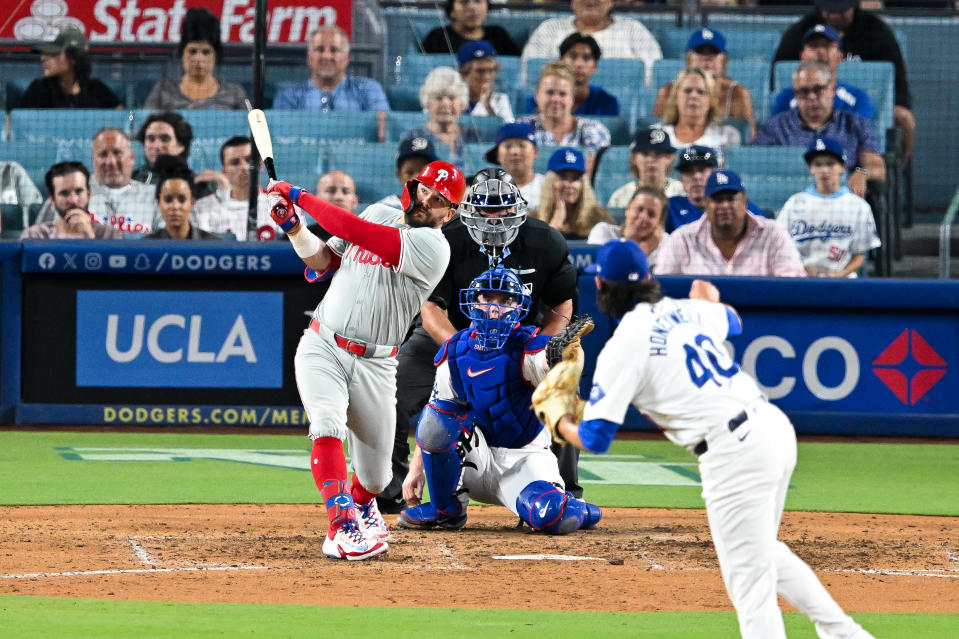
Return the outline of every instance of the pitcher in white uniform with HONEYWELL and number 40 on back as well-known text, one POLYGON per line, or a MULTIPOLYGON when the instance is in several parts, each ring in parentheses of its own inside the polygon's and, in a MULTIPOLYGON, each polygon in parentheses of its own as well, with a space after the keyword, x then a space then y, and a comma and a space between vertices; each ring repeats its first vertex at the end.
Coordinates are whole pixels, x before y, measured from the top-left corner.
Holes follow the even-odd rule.
POLYGON ((572 418, 582 400, 562 400, 560 389, 578 384, 578 375, 568 375, 582 370, 574 361, 555 366, 537 388, 537 415, 554 436, 602 453, 633 404, 699 458, 709 529, 743 637, 786 636, 777 593, 820 637, 871 637, 777 539, 796 434, 723 347, 742 331, 736 312, 702 280, 690 299, 663 297, 629 240, 603 245, 587 270, 596 274, 600 310, 622 321, 599 355, 582 422, 572 418))

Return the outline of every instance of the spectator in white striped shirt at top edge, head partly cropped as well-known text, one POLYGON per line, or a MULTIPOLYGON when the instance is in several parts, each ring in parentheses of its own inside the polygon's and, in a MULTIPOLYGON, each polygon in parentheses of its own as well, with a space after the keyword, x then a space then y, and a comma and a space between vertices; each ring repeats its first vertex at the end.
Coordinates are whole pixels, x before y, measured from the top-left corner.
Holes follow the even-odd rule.
MULTIPOLYGON (((527 60, 555 56, 556 43, 574 32, 593 36, 607 58, 632 58, 649 64, 663 57, 659 43, 642 22, 610 15, 613 0, 572 0, 571 4, 573 16, 546 20, 530 34, 523 47, 524 68, 527 60)), ((636 81, 642 79, 637 68, 636 81)))

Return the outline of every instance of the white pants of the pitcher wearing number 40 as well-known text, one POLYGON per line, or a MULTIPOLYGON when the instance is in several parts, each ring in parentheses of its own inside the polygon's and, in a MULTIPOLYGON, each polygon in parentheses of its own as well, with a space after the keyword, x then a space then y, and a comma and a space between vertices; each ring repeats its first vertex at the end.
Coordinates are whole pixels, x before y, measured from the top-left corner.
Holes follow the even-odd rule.
POLYGON ((778 540, 796 433, 772 404, 756 402, 730 432, 713 428, 699 458, 709 529, 744 639, 785 637, 777 593, 815 624, 822 639, 872 637, 842 611, 812 569, 778 540))

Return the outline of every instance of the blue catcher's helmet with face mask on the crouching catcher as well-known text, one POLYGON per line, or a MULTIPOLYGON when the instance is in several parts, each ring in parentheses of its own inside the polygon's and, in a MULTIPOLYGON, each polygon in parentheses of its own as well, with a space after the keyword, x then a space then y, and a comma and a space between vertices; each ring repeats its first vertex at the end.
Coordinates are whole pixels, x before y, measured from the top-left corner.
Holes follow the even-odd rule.
POLYGON ((530 297, 519 276, 502 266, 480 273, 460 291, 460 310, 473 320, 478 345, 489 350, 503 347, 513 328, 529 313, 529 305, 530 297), (505 294, 506 299, 494 302, 497 294, 505 294))

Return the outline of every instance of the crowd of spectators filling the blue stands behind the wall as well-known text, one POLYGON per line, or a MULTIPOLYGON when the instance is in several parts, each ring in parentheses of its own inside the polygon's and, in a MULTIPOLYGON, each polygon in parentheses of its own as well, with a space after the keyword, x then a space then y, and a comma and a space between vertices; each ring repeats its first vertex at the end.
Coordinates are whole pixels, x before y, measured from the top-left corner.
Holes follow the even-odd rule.
MULTIPOLYGON (((315 163, 303 184, 356 213, 374 201, 398 204, 402 184, 431 159, 468 175, 500 166, 531 216, 568 241, 633 239, 654 272, 856 277, 880 246, 877 222, 888 214, 880 111, 889 106, 890 124, 902 131, 903 163, 915 118, 889 27, 859 0, 814 4, 769 51, 771 59, 798 63, 791 83, 775 92, 769 76, 762 87, 737 79, 737 52, 716 29, 685 30, 684 57, 665 60, 642 15, 613 12, 612 0, 572 0, 569 15, 543 21, 525 42, 491 24, 486 0, 449 0, 449 23, 409 43, 416 53, 395 86, 351 73, 347 33, 324 26, 307 38, 305 79, 284 77, 266 106, 318 119, 335 112, 375 117, 366 144, 389 162, 350 165, 343 156, 356 145, 328 145, 322 152, 329 161, 315 163), (859 64, 853 60, 893 64, 888 104, 874 99, 875 87, 838 79, 859 64), (424 61, 428 68, 414 73, 414 62, 424 61), (666 77, 667 69, 675 73, 666 77), (654 78, 666 81, 657 86, 654 78), (802 158, 808 173, 794 172, 789 184, 806 188, 767 196, 761 167, 737 166, 734 157, 743 156, 731 153, 761 145, 802 158), (365 173, 374 169, 382 170, 365 173)), ((29 207, 21 237, 249 239, 248 131, 221 136, 219 162, 206 161, 210 151, 198 166, 191 145, 202 138, 209 147, 212 138, 184 117, 250 106, 247 89, 219 74, 215 16, 187 12, 176 47, 181 74, 156 78, 142 104, 127 104, 129 94, 119 97, 96 78, 79 30, 64 28, 34 51, 42 77, 10 99, 11 112, 37 110, 43 118, 43 109, 142 106, 149 115, 135 135, 132 111, 129 131, 104 122, 88 147, 77 147, 89 148, 89 157, 57 157, 43 171, 25 172, 16 157, 0 157, 4 204, 29 207), (45 200, 31 182, 45 188, 45 200)), ((312 168, 298 167, 298 175, 312 168)), ((256 239, 282 238, 265 195, 256 209, 256 239)))

